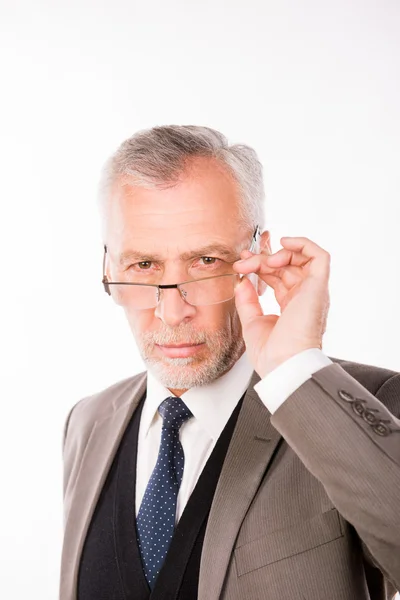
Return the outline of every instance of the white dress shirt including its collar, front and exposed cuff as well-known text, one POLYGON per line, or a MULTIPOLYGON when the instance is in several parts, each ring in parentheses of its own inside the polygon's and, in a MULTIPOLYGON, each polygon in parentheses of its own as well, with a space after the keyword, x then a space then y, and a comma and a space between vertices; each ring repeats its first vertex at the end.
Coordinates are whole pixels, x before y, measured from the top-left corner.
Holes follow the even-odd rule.
MULTIPOLYGON (((332 361, 318 348, 305 350, 274 369, 259 381, 254 389, 268 410, 274 413, 313 373, 329 364, 332 364, 332 361)), ((191 388, 182 394, 181 398, 193 417, 182 425, 179 435, 185 465, 178 492, 177 521, 229 417, 247 390, 252 374, 253 367, 245 353, 232 369, 219 379, 202 387, 191 388)), ((157 409, 161 402, 171 395, 151 371, 148 371, 147 396, 138 437, 136 515, 157 462, 162 427, 162 417, 157 409)))

